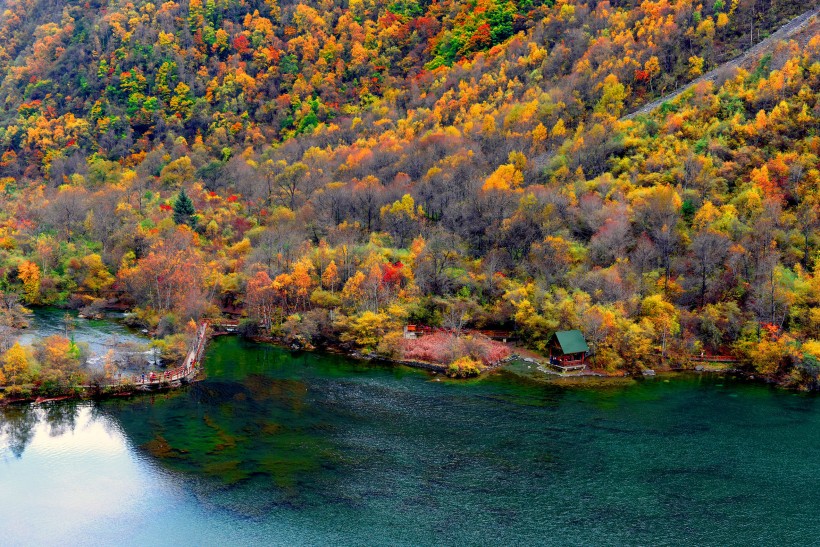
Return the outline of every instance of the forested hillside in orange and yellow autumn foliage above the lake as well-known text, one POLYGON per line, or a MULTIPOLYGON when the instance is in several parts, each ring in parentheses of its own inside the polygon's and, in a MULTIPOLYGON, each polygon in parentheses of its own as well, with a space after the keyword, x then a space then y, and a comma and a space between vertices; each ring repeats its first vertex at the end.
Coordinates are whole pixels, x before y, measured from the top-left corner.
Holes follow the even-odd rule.
POLYGON ((610 371, 815 381, 818 26, 619 118, 817 1, 4 5, 8 325, 19 294, 169 347, 223 312, 391 357, 407 322, 580 328, 610 371))

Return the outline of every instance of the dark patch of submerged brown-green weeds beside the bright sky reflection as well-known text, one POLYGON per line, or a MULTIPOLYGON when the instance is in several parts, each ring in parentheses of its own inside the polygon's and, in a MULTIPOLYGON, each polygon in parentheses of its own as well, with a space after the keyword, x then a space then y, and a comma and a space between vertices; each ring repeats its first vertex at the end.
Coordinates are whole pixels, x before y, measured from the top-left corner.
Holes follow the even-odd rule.
MULTIPOLYGON (((307 408, 307 394, 304 382, 251 374, 100 408, 163 467, 230 488, 234 496, 264 497, 270 507, 294 503, 310 473, 331 459, 327 437, 316 434, 321 417, 307 408)), ((227 507, 240 510, 232 502, 227 507)), ((241 508, 246 516, 259 510, 258 504, 241 508)))

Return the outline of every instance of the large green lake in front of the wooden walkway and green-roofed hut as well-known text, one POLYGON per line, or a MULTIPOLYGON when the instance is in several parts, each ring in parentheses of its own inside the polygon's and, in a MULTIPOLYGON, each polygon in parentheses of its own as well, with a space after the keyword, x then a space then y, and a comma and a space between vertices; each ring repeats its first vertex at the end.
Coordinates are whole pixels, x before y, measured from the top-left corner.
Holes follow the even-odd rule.
POLYGON ((808 544, 820 400, 211 343, 186 390, 0 414, 0 543, 808 544))

